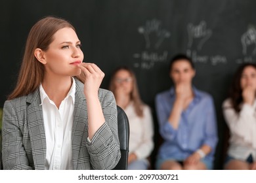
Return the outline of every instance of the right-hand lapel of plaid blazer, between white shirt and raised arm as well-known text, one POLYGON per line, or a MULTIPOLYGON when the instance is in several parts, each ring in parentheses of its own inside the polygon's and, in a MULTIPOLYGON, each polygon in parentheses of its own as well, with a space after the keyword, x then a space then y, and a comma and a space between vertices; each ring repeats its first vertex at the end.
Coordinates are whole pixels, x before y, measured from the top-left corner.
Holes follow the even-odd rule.
POLYGON ((79 152, 81 150, 82 141, 87 141, 87 137, 83 137, 87 121, 87 105, 85 95, 83 94, 83 84, 75 79, 75 108, 72 126, 72 156, 73 156, 73 169, 77 169, 79 152))

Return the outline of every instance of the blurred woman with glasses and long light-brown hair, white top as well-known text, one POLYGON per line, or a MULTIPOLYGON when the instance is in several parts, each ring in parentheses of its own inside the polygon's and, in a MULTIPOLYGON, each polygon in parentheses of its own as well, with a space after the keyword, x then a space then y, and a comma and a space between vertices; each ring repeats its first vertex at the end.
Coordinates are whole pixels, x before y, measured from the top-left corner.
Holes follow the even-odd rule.
POLYGON ((110 91, 116 103, 125 110, 130 125, 128 169, 148 169, 146 158, 153 147, 153 120, 150 108, 142 103, 135 74, 127 67, 119 67, 112 74, 110 91))

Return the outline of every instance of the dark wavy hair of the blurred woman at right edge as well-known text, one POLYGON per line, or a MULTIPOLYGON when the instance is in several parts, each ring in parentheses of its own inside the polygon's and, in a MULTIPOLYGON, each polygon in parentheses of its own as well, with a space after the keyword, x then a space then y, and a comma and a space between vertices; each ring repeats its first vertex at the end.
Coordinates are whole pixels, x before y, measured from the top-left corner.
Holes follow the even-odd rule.
POLYGON ((255 63, 244 63, 238 67, 238 70, 236 71, 234 78, 232 80, 232 84, 229 90, 229 97, 231 99, 231 105, 236 110, 236 112, 240 112, 241 110, 241 104, 243 102, 242 97, 242 88, 241 88, 241 78, 242 73, 244 72, 244 69, 246 67, 253 67, 256 69, 255 63))

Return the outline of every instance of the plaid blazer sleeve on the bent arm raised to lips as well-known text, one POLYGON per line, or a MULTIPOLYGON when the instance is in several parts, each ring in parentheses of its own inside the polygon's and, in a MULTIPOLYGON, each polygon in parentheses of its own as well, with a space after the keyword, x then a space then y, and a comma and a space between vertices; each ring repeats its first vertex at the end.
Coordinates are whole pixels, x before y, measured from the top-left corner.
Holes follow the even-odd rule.
POLYGON ((108 90, 99 91, 105 122, 87 142, 93 169, 113 169, 121 158, 117 134, 117 107, 114 95, 108 90))

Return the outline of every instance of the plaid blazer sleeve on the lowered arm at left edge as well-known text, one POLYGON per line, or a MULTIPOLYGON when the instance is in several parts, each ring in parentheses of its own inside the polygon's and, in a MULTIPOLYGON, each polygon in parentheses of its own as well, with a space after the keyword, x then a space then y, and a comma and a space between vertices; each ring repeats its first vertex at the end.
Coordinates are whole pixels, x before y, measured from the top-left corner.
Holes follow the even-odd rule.
POLYGON ((11 101, 3 107, 3 169, 32 169, 23 146, 16 108, 11 101))

